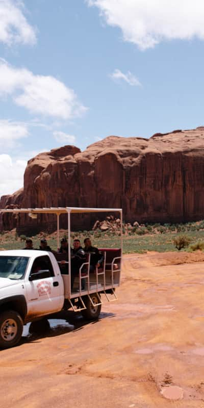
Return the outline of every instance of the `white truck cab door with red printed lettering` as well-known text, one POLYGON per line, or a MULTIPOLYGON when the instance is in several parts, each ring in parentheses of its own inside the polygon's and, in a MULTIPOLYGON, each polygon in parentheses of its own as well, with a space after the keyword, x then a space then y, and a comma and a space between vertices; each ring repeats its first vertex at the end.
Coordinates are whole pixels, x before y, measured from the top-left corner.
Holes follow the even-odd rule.
POLYGON ((28 314, 43 315, 61 309, 60 278, 55 276, 52 262, 47 255, 35 258, 25 287, 28 299, 28 314), (39 278, 39 270, 49 270, 50 276, 39 278))

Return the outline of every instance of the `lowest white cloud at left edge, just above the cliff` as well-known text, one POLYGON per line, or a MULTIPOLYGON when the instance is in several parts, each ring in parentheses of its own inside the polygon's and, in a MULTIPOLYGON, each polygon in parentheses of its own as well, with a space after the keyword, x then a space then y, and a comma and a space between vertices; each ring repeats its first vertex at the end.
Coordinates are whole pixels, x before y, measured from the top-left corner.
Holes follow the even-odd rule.
POLYGON ((0 155, 0 197, 12 194, 23 187, 23 174, 27 161, 12 161, 9 155, 0 155))

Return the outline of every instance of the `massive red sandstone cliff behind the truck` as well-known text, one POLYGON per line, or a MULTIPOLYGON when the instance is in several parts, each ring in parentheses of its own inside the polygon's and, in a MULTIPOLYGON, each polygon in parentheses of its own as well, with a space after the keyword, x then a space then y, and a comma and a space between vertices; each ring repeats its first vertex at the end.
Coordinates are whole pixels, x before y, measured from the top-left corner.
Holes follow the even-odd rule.
MULTIPOLYGON (((150 139, 109 136, 83 152, 64 146, 28 162, 24 189, 0 207, 116 207, 126 221, 182 222, 204 215, 204 127, 150 139)), ((44 217, 30 220, 39 229, 44 217)), ((53 217, 49 227, 55 228, 53 217)), ((64 221, 62 221, 63 223, 64 221)), ((4 217, 1 228, 25 216, 4 217)), ((82 227, 80 228, 82 229, 82 227)))

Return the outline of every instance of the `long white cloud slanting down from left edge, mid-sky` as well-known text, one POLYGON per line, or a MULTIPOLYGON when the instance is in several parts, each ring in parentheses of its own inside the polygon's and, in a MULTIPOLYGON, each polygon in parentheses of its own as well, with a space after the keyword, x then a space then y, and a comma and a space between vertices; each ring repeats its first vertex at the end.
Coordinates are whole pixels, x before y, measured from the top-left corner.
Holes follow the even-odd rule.
POLYGON ((32 113, 62 119, 81 116, 87 110, 74 91, 56 78, 34 75, 28 69, 14 68, 1 59, 0 96, 4 95, 11 95, 16 105, 32 113))

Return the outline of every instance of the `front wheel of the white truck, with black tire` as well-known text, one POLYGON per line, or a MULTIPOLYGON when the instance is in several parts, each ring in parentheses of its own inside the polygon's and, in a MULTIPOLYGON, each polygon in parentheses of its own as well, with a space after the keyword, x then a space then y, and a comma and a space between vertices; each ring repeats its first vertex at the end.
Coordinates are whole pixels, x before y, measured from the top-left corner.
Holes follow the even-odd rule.
POLYGON ((0 347, 10 348, 15 346, 23 330, 23 321, 14 310, 7 310, 0 315, 0 347))

